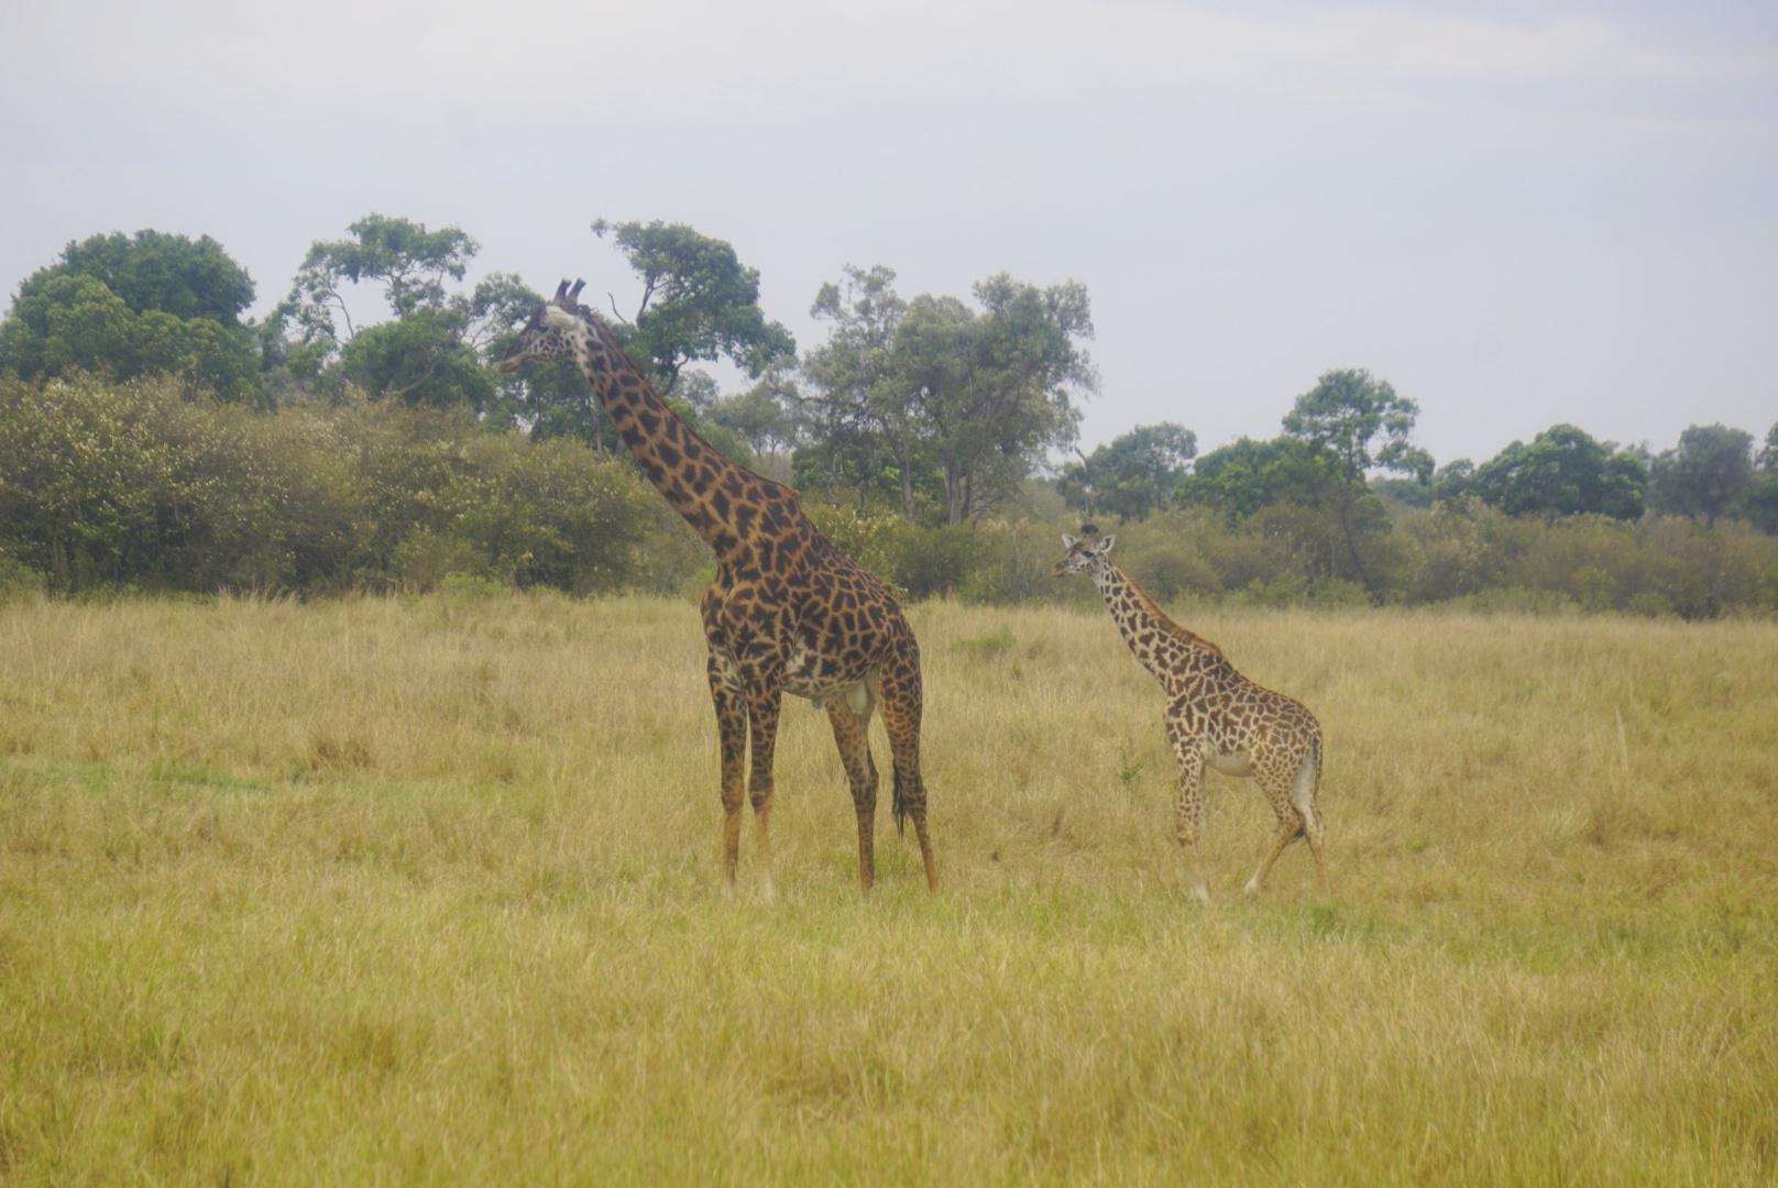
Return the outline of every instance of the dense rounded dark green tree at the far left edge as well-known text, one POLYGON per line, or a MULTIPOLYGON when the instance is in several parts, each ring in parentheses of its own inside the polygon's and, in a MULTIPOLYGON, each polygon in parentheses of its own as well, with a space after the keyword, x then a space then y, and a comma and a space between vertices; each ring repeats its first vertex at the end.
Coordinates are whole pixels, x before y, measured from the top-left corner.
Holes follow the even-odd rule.
POLYGON ((252 279, 208 235, 94 235, 20 285, 0 324, 0 370, 32 381, 169 373, 187 393, 256 400, 260 363, 240 322, 251 301, 252 279))

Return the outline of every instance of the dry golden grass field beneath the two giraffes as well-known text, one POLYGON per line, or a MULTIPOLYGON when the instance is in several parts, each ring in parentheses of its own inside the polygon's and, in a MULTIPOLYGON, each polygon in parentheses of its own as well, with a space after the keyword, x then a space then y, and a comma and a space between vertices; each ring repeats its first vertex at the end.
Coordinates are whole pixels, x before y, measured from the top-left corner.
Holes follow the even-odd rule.
POLYGON ((1191 612, 1334 880, 1197 911, 1109 619, 910 617, 941 895, 793 702, 765 905, 690 605, 0 608, 0 1179, 1778 1177, 1773 624, 1191 612))

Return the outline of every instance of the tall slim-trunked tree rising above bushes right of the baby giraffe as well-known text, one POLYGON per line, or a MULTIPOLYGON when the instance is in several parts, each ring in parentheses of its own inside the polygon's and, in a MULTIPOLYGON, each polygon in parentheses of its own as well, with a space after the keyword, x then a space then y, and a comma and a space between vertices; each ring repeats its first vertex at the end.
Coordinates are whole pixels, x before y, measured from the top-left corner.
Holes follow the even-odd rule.
POLYGON ((1389 381, 1364 368, 1346 368, 1325 372, 1314 388, 1296 397, 1296 407, 1284 418, 1287 436, 1317 445, 1337 461, 1342 482, 1334 487, 1334 512, 1358 580, 1373 594, 1358 550, 1360 503, 1376 498, 1366 487, 1366 473, 1382 468, 1419 482, 1431 478, 1431 454, 1408 441, 1419 413, 1421 405, 1398 397, 1389 381))

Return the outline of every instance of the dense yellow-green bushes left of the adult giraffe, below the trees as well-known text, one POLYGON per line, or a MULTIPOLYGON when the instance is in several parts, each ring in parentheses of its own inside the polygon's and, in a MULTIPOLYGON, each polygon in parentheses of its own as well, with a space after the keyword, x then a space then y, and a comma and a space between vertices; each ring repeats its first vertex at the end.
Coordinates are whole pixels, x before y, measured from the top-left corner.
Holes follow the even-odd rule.
MULTIPOLYGON (((0 381, 0 555, 53 590, 651 585, 628 464, 363 397, 276 416, 172 381, 0 381)), ((683 574, 669 574, 677 583, 683 574)))

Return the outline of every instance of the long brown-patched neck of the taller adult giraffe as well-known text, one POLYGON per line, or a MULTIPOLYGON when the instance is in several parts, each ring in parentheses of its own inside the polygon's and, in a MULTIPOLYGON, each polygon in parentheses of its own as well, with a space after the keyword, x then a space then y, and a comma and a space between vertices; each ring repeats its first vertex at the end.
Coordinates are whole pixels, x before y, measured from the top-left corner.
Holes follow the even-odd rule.
POLYGON ((574 343, 580 365, 599 407, 629 448, 644 477, 667 503, 727 557, 761 532, 784 532, 797 516, 797 493, 738 466, 686 425, 637 370, 622 347, 596 317, 574 343))

